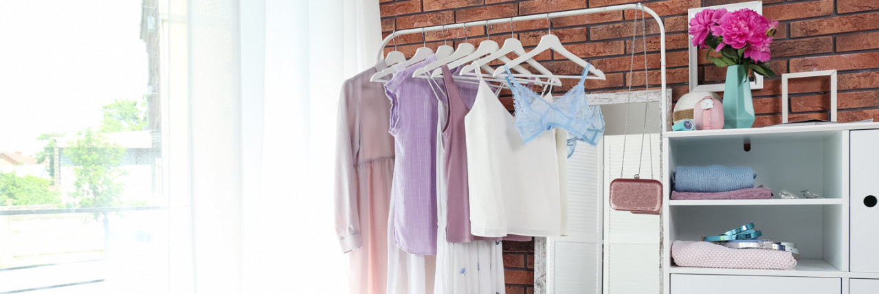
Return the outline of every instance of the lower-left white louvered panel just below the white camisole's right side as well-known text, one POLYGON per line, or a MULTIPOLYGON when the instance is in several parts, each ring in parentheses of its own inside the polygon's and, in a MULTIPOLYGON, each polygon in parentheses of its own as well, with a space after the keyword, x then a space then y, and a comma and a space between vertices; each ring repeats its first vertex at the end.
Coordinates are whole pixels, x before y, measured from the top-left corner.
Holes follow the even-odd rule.
POLYGON ((600 250, 598 244, 582 242, 555 242, 556 259, 555 293, 583 294, 598 293, 600 279, 600 250))

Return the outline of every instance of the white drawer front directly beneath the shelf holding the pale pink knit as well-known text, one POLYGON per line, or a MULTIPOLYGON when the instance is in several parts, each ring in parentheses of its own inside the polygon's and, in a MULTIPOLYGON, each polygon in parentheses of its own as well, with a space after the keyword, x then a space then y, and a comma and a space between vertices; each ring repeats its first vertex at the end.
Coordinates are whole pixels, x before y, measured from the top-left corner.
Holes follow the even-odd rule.
POLYGON ((842 280, 832 277, 672 275, 671 286, 671 294, 842 293, 842 280))

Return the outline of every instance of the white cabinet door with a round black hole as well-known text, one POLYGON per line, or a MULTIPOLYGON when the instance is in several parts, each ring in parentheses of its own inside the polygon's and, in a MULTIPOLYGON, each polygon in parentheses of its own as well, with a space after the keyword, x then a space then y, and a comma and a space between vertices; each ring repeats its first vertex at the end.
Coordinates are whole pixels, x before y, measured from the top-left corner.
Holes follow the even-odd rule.
POLYGON ((879 130, 852 131, 850 136, 851 270, 879 272, 879 130))

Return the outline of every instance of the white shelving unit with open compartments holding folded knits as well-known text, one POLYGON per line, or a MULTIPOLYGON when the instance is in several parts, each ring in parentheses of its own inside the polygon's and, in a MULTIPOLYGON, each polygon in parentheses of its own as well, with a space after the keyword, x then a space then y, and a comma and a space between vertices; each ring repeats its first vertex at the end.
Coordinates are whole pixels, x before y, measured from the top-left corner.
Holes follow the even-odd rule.
MULTIPOLYGON (((723 129, 663 134, 666 195, 663 205, 664 292, 671 294, 740 293, 741 287, 700 288, 707 284, 741 284, 744 289, 768 289, 785 284, 788 293, 859 292, 855 284, 879 283, 879 253, 871 255, 865 242, 879 241, 879 205, 864 206, 867 194, 879 196, 879 124, 799 125, 723 129), (857 144, 855 146, 854 144, 857 144), (870 145, 869 147, 866 147, 870 145), (869 151, 873 150, 873 151, 869 151), (671 200, 672 178, 679 166, 750 166, 755 184, 799 193, 810 190, 816 199, 671 200), (873 180, 861 176, 870 175, 873 180), (857 176, 850 176, 857 175, 857 176), (864 194, 864 195, 861 195, 864 194), (857 208, 857 209, 855 209, 857 208), (875 215, 875 217, 874 217, 875 215), (706 269, 674 264, 674 240, 701 240, 731 227, 754 223, 763 239, 793 241, 800 249, 794 269, 706 269), (851 249, 851 250, 850 250, 851 249), (853 263, 854 262, 854 263, 853 263), (865 264, 855 269, 853 264, 865 264), (774 278, 767 278, 774 277, 774 278), (776 285, 777 286, 777 285, 776 285), (768 288, 767 288, 768 287, 768 288), (832 289, 832 291, 827 291, 832 289)), ((870 245, 875 250, 875 243, 870 245)))

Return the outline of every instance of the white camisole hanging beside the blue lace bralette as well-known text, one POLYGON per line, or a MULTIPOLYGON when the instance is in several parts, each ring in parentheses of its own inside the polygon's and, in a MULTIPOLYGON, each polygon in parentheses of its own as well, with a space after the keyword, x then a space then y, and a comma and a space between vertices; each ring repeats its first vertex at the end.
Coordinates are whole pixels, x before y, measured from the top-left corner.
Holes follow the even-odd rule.
POLYGON ((523 143, 515 118, 484 81, 464 125, 472 233, 561 235, 567 134, 556 128, 523 143))

